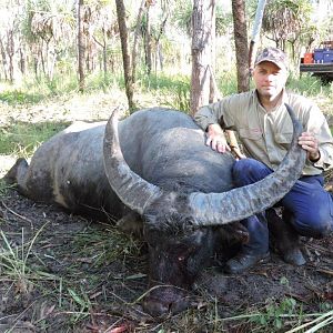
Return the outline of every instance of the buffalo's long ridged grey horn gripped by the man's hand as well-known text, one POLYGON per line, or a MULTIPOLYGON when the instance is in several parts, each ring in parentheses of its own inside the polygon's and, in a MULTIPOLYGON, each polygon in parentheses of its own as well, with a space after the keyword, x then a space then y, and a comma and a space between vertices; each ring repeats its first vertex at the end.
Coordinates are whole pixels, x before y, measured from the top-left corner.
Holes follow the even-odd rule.
POLYGON ((293 110, 285 104, 293 122, 293 140, 274 173, 261 181, 224 193, 191 193, 189 204, 196 225, 225 224, 264 211, 280 201, 294 185, 304 168, 306 153, 297 144, 303 131, 293 110))

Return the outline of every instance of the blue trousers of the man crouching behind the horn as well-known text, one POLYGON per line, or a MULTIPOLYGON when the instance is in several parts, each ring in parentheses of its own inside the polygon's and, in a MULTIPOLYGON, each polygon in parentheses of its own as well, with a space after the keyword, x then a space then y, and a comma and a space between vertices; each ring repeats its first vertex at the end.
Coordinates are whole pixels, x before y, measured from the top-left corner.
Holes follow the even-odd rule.
MULTIPOLYGON (((239 160, 233 165, 236 186, 254 183, 273 170, 253 160, 239 160)), ((291 191, 276 204, 283 206, 287 223, 300 234, 309 238, 322 238, 333 231, 333 200, 323 188, 322 175, 300 178, 291 191)), ((244 248, 264 253, 269 251, 269 230, 264 212, 242 221, 249 230, 250 241, 244 248)))

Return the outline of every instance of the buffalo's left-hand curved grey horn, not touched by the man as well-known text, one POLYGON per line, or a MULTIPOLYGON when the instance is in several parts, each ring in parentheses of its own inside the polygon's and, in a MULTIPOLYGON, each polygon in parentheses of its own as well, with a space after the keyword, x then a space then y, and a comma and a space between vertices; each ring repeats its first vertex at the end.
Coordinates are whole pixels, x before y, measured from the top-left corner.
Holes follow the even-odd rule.
POLYGON ((103 159, 112 190, 131 210, 142 214, 144 208, 162 194, 159 186, 131 171, 124 161, 118 137, 118 109, 113 111, 105 127, 103 159))

